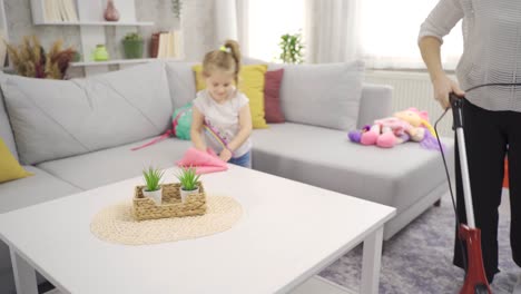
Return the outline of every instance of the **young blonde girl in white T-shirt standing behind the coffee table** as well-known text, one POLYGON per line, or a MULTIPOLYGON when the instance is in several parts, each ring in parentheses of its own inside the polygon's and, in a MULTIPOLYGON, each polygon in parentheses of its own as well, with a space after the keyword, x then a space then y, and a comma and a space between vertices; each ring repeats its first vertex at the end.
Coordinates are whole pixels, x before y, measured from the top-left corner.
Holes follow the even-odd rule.
POLYGON ((210 147, 224 161, 252 167, 252 115, 248 98, 238 85, 240 51, 238 43, 227 40, 218 50, 206 53, 203 77, 206 89, 197 94, 190 136, 195 147, 210 147))

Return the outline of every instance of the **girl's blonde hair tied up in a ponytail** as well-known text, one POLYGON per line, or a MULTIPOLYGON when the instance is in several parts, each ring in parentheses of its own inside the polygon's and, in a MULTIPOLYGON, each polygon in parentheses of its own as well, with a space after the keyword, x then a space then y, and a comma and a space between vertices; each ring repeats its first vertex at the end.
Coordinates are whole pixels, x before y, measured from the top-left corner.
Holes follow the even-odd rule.
POLYGON ((234 74, 235 84, 238 85, 240 50, 237 41, 226 40, 222 48, 205 55, 205 59, 203 60, 203 75, 207 77, 214 70, 234 74))

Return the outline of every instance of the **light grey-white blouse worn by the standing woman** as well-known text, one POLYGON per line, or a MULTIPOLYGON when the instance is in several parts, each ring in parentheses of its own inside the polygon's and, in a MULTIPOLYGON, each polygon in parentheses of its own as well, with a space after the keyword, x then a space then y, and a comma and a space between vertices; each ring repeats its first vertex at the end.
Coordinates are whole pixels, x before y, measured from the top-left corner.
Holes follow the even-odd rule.
MULTIPOLYGON (((463 19, 463 55, 456 76, 463 90, 483 84, 521 84, 521 0, 440 0, 420 29, 419 41, 440 41, 463 19)), ((490 86, 465 97, 488 110, 521 112, 521 86, 490 86)))

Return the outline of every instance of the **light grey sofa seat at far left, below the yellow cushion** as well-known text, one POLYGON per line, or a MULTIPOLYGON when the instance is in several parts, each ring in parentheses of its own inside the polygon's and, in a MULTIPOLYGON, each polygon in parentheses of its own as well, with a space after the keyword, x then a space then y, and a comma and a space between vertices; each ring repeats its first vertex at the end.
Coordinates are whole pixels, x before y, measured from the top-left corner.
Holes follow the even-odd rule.
POLYGON ((0 214, 81 192, 40 168, 23 168, 33 176, 0 185, 0 214))

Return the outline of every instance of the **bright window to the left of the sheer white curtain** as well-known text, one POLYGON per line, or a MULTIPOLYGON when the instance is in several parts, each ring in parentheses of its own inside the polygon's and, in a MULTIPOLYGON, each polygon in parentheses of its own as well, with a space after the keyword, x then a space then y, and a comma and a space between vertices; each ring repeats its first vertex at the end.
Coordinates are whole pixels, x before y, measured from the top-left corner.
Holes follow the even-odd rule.
POLYGON ((278 57, 281 36, 296 33, 304 27, 304 3, 303 0, 248 0, 246 53, 267 61, 278 57))

